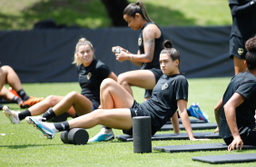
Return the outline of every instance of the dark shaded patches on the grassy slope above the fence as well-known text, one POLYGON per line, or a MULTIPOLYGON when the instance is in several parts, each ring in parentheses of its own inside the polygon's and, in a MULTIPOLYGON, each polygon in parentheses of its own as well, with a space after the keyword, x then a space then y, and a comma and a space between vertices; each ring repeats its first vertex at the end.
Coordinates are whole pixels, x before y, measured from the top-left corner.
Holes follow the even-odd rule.
MULTIPOLYGON (((145 3, 150 17, 158 25, 195 25, 195 19, 186 18, 179 10, 172 10, 145 3)), ((167 3, 166 5, 172 5, 167 3)), ((33 5, 26 6, 20 15, 1 14, 0 29, 32 29, 34 24, 54 19, 57 25, 78 26, 83 28, 108 27, 111 21, 100 0, 49 0, 38 1, 33 5)))

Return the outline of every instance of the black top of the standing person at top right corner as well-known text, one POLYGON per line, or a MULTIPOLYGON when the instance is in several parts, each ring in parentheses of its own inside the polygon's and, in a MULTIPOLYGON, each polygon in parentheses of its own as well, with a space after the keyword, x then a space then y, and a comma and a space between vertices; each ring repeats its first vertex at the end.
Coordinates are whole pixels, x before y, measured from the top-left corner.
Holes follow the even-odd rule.
POLYGON ((234 8, 232 12, 231 35, 236 35, 245 39, 256 34, 256 2, 253 0, 229 0, 229 5, 242 6, 234 8))

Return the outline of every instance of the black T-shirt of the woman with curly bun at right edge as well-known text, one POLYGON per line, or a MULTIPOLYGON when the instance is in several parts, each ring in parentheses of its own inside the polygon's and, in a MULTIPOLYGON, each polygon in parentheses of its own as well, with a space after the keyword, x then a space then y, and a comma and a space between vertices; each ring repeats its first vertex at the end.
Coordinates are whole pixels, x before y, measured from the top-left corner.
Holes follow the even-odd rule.
POLYGON ((256 77, 249 72, 234 76, 223 95, 222 113, 220 120, 220 136, 222 138, 232 137, 231 130, 226 121, 223 106, 227 103, 233 93, 240 93, 245 101, 236 108, 236 121, 239 133, 246 133, 255 123, 254 114, 256 109, 256 77))

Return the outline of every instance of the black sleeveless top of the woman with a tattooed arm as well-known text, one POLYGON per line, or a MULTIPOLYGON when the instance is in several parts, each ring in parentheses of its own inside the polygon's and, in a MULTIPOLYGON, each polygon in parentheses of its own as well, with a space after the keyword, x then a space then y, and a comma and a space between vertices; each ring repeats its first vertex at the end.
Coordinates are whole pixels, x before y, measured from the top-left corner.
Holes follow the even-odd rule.
MULTIPOLYGON (((152 22, 148 22, 147 24, 145 24, 143 26, 143 28, 141 29, 141 32, 139 34, 139 39, 138 39, 138 46, 139 46, 139 50, 140 50, 140 54, 145 54, 144 52, 144 42, 143 42, 143 29, 147 26, 153 24, 152 22)), ((155 25, 155 24, 153 24, 155 25)), ((160 29, 160 28, 159 28, 160 29)), ((154 53, 153 53, 153 61, 151 63, 143 63, 141 66, 141 69, 152 69, 152 68, 158 68, 160 69, 160 64, 159 64, 159 56, 160 53, 163 49, 162 47, 162 43, 164 41, 163 38, 163 34, 162 34, 162 30, 161 31, 161 36, 159 38, 155 38, 154 40, 154 53)))

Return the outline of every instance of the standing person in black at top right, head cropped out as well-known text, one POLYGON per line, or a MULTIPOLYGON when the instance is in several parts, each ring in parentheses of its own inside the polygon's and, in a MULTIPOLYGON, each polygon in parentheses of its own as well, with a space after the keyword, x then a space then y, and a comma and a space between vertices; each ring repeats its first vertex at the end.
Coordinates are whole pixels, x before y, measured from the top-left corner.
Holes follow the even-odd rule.
POLYGON ((246 40, 256 34, 256 0, 229 0, 232 15, 230 57, 235 74, 245 72, 246 40))

